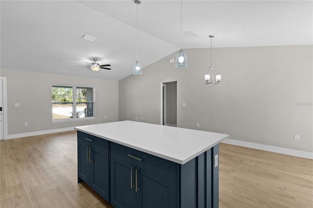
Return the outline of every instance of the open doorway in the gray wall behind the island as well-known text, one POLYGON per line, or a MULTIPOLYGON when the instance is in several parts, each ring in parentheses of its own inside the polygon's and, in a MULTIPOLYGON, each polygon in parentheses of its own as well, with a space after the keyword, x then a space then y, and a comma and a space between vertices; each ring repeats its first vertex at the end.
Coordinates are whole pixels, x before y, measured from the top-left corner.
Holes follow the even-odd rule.
POLYGON ((162 125, 177 126, 177 81, 162 83, 162 125))

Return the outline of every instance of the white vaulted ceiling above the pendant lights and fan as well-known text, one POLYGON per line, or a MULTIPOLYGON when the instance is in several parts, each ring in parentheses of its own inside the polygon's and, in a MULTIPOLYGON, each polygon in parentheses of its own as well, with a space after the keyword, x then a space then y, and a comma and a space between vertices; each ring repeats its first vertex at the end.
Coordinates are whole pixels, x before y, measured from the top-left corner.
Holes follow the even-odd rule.
MULTIPOLYGON (((1 68, 109 80, 133 73, 133 0, 1 0, 0 12, 1 68), (93 58, 112 70, 75 66, 93 58)), ((213 47, 313 44, 312 0, 183 0, 182 16, 183 31, 199 34, 183 34, 182 48, 208 48, 208 35, 213 47)), ((138 29, 143 67, 179 50, 180 0, 141 0, 138 29)))

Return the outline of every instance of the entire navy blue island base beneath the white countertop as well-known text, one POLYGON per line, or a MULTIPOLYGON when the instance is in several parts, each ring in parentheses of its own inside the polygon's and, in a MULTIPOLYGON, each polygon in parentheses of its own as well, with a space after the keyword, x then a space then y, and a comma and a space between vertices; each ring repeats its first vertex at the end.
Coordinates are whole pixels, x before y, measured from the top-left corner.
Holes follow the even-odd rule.
POLYGON ((218 208, 219 145, 183 165, 78 131, 78 183, 114 208, 218 208))

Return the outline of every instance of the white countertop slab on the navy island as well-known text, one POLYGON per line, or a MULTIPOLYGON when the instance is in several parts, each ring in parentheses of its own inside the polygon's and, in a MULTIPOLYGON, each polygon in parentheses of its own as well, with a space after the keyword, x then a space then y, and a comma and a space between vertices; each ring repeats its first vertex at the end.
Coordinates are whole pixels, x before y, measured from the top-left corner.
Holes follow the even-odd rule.
POLYGON ((134 121, 74 128, 182 165, 229 137, 228 134, 134 121))

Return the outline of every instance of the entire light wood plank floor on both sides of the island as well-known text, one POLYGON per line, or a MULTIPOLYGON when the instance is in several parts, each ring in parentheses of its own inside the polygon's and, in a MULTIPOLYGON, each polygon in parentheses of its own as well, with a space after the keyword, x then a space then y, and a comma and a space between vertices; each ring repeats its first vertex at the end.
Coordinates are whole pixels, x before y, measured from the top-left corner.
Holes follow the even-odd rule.
MULTIPOLYGON (((77 184, 76 131, 0 142, 1 208, 112 208, 77 184)), ((313 160, 220 145, 221 208, 313 208, 313 160)))

